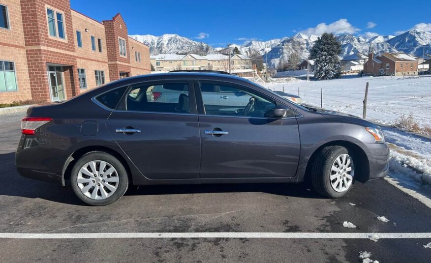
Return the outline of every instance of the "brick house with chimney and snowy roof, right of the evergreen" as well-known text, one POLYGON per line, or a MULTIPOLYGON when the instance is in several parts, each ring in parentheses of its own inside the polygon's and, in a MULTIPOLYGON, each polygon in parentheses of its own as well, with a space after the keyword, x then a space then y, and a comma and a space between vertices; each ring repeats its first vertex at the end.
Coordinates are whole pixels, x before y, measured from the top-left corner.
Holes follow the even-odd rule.
POLYGON ((417 75, 418 60, 404 53, 382 53, 374 57, 370 50, 368 61, 364 64, 364 73, 372 75, 402 76, 417 75))

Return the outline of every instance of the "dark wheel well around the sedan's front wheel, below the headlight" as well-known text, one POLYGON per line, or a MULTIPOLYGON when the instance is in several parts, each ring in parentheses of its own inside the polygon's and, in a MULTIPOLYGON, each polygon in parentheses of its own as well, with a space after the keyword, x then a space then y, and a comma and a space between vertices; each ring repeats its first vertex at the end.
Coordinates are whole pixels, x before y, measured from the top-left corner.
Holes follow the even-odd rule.
POLYGON ((364 150, 361 147, 351 142, 333 141, 333 142, 329 142, 324 145, 321 145, 313 152, 313 154, 311 154, 311 157, 308 159, 308 162, 307 162, 307 168, 306 168, 305 178, 304 178, 305 182, 311 183, 311 167, 312 167, 311 164, 315 161, 317 154, 326 146, 346 147, 349 152, 350 151, 352 152, 354 157, 359 158, 360 160, 361 165, 358 165, 358 164, 355 165, 355 180, 363 183, 369 180, 369 160, 364 150))

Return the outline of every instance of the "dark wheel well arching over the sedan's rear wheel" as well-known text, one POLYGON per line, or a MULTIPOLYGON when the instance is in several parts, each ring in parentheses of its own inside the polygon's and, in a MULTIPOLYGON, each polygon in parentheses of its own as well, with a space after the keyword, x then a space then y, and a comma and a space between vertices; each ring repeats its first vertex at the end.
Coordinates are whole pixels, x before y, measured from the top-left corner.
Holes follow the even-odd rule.
POLYGON ((75 162, 81 158, 84 154, 92 152, 92 151, 103 151, 106 153, 111 154, 112 156, 114 156, 115 158, 117 158, 124 166, 126 172, 127 172, 127 176, 129 177, 129 181, 131 182, 131 184, 133 185, 133 178, 131 176, 131 171, 130 171, 130 167, 128 166, 126 160, 123 158, 123 156, 118 153, 117 151, 108 148, 108 147, 104 147, 104 146, 86 146, 80 149, 77 149, 76 151, 74 151, 68 161, 66 161, 65 164, 65 169, 63 169, 63 182, 65 180, 69 180, 70 179, 70 174, 72 171, 73 166, 75 165, 75 162), (68 163, 67 163, 68 162, 68 163))

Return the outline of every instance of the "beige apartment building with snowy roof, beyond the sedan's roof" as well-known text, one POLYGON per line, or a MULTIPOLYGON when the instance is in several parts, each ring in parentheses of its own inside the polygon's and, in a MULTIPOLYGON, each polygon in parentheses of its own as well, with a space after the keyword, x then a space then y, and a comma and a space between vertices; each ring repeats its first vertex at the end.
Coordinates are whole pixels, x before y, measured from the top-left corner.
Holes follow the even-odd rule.
MULTIPOLYGON (((171 70, 222 70, 229 71, 229 57, 221 54, 199 56, 196 54, 177 55, 159 54, 150 56, 150 61, 155 71, 171 70)), ((233 54, 230 57, 230 69, 232 73, 252 72, 251 59, 233 54)))

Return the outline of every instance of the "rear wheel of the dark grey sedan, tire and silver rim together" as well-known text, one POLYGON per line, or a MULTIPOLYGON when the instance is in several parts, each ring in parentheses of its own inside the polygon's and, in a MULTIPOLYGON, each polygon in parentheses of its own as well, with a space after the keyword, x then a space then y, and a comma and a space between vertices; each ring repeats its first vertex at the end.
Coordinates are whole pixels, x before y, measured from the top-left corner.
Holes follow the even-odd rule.
POLYGON ((123 164, 101 151, 83 155, 73 166, 70 181, 76 196, 89 205, 112 204, 128 187, 123 164))

